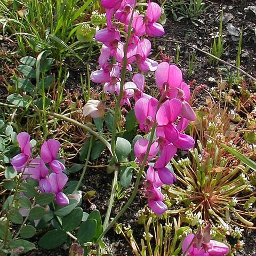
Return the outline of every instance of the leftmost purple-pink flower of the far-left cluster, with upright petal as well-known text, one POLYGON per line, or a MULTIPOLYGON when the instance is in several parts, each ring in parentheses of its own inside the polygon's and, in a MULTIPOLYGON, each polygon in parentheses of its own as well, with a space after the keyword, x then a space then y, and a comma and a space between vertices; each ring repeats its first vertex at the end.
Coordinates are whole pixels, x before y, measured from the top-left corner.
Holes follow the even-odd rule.
POLYGON ((11 164, 17 172, 21 172, 25 167, 31 155, 31 147, 29 143, 30 135, 27 132, 20 132, 17 135, 17 141, 20 145, 21 153, 12 158, 11 164))

